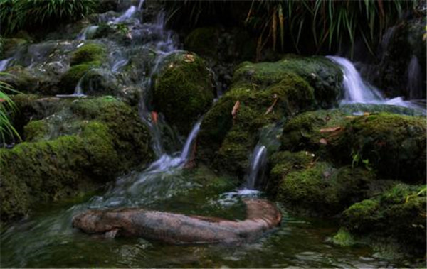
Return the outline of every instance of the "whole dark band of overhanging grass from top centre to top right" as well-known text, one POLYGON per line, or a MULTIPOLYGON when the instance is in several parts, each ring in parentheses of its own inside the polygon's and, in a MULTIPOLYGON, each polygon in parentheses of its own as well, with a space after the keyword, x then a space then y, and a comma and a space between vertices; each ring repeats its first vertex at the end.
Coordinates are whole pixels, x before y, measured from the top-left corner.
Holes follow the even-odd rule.
POLYGON ((258 59, 266 47, 293 49, 297 53, 303 49, 329 53, 343 45, 352 48, 359 38, 374 55, 386 28, 416 3, 416 0, 164 1, 167 18, 175 26, 213 24, 212 16, 224 17, 223 24, 241 21, 258 36, 258 59))

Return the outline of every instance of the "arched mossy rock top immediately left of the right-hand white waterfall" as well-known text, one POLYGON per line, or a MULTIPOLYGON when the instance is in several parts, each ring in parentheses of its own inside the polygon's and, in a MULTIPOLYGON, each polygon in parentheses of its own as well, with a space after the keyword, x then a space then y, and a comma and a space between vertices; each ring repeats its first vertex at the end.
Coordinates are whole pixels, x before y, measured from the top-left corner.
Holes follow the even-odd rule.
POLYGON ((278 62, 243 62, 233 75, 233 86, 265 88, 289 72, 300 75, 315 89, 316 104, 330 108, 337 104, 342 88, 342 71, 325 57, 288 55, 278 62))

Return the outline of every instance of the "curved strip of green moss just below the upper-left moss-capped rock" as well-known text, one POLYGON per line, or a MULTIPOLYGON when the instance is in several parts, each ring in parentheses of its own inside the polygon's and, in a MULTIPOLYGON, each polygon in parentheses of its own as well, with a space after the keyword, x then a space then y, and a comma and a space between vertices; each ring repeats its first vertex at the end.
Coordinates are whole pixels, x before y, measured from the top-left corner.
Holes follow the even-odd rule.
POLYGON ((73 93, 78 81, 94 67, 99 67, 100 61, 86 62, 80 65, 73 65, 65 74, 60 78, 60 87, 65 92, 73 93))

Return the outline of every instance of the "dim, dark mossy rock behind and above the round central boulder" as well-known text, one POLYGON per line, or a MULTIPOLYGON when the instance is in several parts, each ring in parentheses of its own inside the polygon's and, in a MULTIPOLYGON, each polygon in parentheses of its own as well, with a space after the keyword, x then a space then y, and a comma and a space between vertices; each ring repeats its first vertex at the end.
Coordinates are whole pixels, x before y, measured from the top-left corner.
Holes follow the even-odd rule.
POLYGON ((186 36, 184 47, 201 56, 215 57, 218 53, 218 38, 217 28, 196 28, 186 36))

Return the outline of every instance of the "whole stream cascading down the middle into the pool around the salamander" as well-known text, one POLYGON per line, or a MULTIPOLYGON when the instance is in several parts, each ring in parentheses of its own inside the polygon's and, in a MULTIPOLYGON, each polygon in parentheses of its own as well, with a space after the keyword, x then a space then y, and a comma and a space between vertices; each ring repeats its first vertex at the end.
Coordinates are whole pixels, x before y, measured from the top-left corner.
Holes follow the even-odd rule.
MULTIPOLYGON (((112 23, 132 20, 135 24, 130 31, 132 45, 112 44, 110 48, 115 50, 112 50, 110 60, 98 71, 119 77, 120 70, 132 57, 152 53, 154 57, 142 62, 142 68, 139 68, 147 69, 147 72, 143 75, 136 73, 137 79, 131 73, 120 80, 126 87, 142 89, 142 96, 146 97, 152 88, 152 77, 161 69, 163 60, 178 50, 173 33, 164 29, 162 13, 152 23, 135 21, 134 16, 142 10, 142 4, 143 1, 139 1, 138 6, 130 6, 117 18, 105 17, 112 23)), ((82 41, 84 39, 76 40, 82 41)), ((75 94, 84 93, 83 80, 80 79, 76 85, 75 94)), ((264 197, 265 194, 253 189, 263 181, 267 148, 270 152, 270 148, 277 147, 275 143, 260 143, 254 149, 251 167, 248 168, 248 183, 242 190, 238 180, 218 176, 207 168, 185 169, 185 164, 191 160, 201 120, 194 124, 186 141, 181 141, 164 122, 162 115, 150 110, 146 99, 139 102, 139 114, 152 133, 157 160, 145 170, 117 178, 102 193, 80 198, 79 201, 39 205, 31 218, 3 227, 1 268, 371 268, 404 265, 379 258, 367 246, 334 246, 330 236, 337 232, 336 223, 295 218, 283 207, 280 207, 283 212, 280 227, 258 241, 239 246, 171 246, 144 238, 106 239, 73 229, 73 216, 88 208, 146 207, 181 214, 244 219, 241 198, 264 197), (166 143, 172 146, 166 147, 166 143)), ((268 136, 275 137, 276 129, 272 128, 268 136)))

